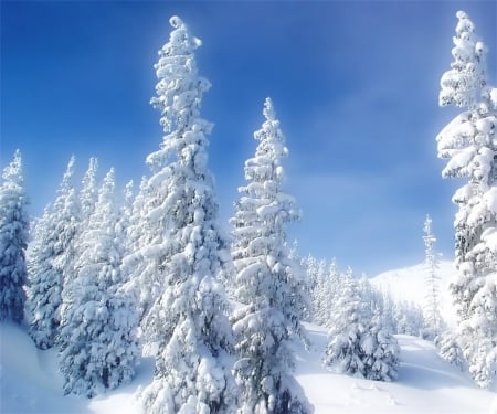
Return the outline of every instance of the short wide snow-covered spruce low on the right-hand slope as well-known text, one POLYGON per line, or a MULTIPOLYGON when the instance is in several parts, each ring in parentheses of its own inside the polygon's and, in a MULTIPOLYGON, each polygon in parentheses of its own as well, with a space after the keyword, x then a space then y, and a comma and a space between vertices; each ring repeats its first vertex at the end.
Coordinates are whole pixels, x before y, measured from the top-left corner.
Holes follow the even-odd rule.
POLYGON ((396 379, 399 344, 383 327, 379 309, 371 315, 368 298, 361 297, 350 273, 341 277, 332 320, 322 360, 326 367, 369 380, 396 379))

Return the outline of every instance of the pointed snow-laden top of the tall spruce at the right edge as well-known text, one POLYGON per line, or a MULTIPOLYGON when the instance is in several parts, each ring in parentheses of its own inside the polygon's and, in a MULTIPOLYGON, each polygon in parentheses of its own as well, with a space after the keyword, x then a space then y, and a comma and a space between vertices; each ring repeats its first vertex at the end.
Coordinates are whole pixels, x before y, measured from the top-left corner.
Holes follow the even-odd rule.
POLYGON ((475 25, 468 15, 464 11, 458 11, 456 15, 458 23, 452 50, 454 62, 451 64, 452 68, 442 75, 438 105, 473 108, 487 83, 487 47, 475 34, 475 25))

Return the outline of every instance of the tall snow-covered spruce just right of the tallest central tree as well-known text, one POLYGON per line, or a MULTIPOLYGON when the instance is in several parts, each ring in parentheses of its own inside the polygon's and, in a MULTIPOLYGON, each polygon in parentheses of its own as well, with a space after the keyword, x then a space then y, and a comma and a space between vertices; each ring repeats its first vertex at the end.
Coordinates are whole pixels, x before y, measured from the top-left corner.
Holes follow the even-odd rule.
POLYGON ((293 336, 305 340, 297 304, 305 301, 304 272, 289 257, 286 226, 298 220, 295 199, 283 191, 282 159, 288 152, 269 98, 255 157, 245 162, 246 187, 235 204, 232 256, 235 297, 246 306, 233 317, 239 360, 234 373, 241 413, 308 413, 292 370, 293 336))

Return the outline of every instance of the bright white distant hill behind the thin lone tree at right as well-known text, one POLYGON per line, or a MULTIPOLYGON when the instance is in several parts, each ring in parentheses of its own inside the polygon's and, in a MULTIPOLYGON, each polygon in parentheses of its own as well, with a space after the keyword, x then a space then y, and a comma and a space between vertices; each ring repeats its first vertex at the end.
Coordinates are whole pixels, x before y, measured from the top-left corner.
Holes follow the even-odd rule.
MULTIPOLYGON (((441 298, 441 315, 448 325, 455 320, 454 306, 448 293, 448 284, 455 276, 453 262, 438 262, 437 276, 441 298)), ((394 300, 413 301, 420 306, 424 305, 426 285, 424 278, 427 269, 424 264, 399 268, 381 273, 370 279, 373 286, 383 291, 390 291, 394 300)))

